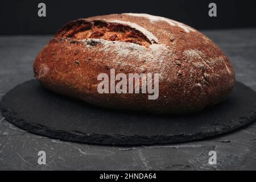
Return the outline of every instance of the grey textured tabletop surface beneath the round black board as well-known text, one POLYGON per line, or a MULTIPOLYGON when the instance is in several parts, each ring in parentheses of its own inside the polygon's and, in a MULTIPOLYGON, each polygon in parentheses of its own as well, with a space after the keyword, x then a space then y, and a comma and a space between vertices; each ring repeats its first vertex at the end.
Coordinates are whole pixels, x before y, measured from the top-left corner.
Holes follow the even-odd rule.
MULTIPOLYGON (((205 31, 229 56, 237 81, 256 90, 256 28, 205 31)), ((51 36, 0 37, 0 97, 33 77, 32 63, 51 36)), ((20 107, 25 107, 24 105, 20 107)), ((20 130, 0 115, 0 169, 256 169, 256 122, 197 142, 109 147, 63 142, 20 130), (38 152, 46 151, 46 165, 38 152), (217 165, 208 153, 217 152, 217 165)))

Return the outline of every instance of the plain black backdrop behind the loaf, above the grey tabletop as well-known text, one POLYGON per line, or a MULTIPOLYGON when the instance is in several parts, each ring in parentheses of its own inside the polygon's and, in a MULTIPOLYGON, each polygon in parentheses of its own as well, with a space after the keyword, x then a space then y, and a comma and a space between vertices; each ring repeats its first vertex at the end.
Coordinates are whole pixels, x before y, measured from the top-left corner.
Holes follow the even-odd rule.
POLYGON ((142 0, 0 0, 0 34, 52 34, 77 18, 112 13, 147 13, 178 20, 197 29, 256 27, 255 1, 142 1, 142 0), (46 3, 46 17, 38 16, 38 4, 46 3), (217 17, 208 16, 210 2, 217 17))

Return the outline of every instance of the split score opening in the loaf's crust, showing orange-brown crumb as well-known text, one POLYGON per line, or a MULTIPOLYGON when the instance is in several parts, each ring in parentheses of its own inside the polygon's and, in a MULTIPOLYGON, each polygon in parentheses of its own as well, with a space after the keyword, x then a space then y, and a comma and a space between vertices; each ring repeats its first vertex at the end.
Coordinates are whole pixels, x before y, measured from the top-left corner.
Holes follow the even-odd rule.
POLYGON ((139 44, 148 47, 158 39, 145 28, 136 23, 121 20, 75 20, 66 24, 55 36, 56 38, 104 39, 139 44))

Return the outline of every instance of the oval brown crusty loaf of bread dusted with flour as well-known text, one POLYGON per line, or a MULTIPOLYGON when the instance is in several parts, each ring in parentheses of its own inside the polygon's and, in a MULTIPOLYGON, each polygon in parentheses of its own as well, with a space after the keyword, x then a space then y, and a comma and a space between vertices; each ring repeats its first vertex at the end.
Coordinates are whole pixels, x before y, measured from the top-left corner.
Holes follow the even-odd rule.
POLYGON ((89 104, 167 114, 217 104, 234 85, 228 57, 207 36, 172 19, 134 13, 65 24, 36 57, 34 73, 45 88, 89 104), (158 86, 158 96, 149 99, 142 92, 143 79, 137 82, 139 93, 99 92, 98 76, 104 73, 111 79, 113 71, 115 76, 127 75, 127 82, 130 73, 155 74, 151 85, 158 86))

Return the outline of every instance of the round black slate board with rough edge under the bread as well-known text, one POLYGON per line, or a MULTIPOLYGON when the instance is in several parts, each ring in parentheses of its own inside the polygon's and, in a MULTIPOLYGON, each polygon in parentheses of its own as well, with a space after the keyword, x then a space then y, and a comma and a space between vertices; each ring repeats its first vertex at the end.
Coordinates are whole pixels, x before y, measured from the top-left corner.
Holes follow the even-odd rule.
POLYGON ((7 121, 32 133, 73 142, 117 146, 185 142, 226 133, 256 118, 256 92, 236 82, 216 106, 187 115, 109 110, 24 82, 3 96, 7 121))

